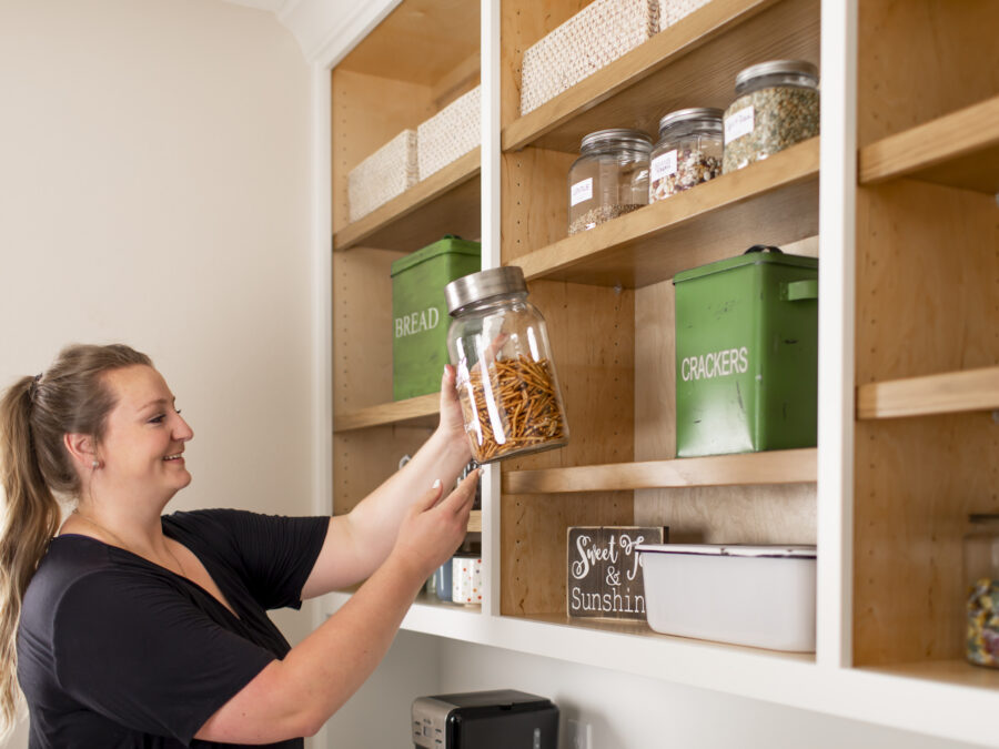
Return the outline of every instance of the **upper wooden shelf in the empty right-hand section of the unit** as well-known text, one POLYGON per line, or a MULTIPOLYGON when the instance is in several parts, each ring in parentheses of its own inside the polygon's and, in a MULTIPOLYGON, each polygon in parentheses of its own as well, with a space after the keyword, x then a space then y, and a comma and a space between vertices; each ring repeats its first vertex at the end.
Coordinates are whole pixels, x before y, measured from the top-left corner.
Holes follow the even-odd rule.
POLYGON ((999 97, 860 150, 860 183, 896 178, 999 193, 999 97))

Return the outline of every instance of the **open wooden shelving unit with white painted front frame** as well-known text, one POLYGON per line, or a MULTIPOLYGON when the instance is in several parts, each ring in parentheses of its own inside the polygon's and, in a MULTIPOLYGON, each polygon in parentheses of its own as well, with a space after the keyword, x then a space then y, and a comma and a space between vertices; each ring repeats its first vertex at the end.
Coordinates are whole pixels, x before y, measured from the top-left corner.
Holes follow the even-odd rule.
MULTIPOLYGON (((383 24, 397 13, 451 23, 457 4, 477 8, 403 0, 383 24)), ((365 70, 361 58, 390 38, 382 27, 333 71, 335 510, 436 421, 436 394, 391 401, 389 265, 440 234, 482 234, 484 263, 523 267, 545 314, 572 436, 487 468, 481 613, 422 596, 405 628, 995 745, 999 672, 961 659, 959 578, 966 516, 999 512, 999 79, 986 72, 999 70, 999 6, 712 0, 522 117, 521 55, 585 4, 484 0, 498 29, 481 67, 453 51, 446 65, 426 51, 394 65, 437 80, 365 70), (856 28, 830 30, 826 19, 850 8, 856 28), (749 64, 835 61, 852 48, 857 80, 834 101, 856 104, 856 150, 826 130, 824 109, 821 139, 567 236, 566 173, 586 133, 654 134, 672 110, 725 108, 749 64), (480 69, 498 101, 484 95, 481 152, 345 222, 344 170, 480 69), (824 154, 844 142, 857 180, 836 194, 824 154), (855 236, 829 242, 820 216, 855 236), (753 244, 821 246, 820 267, 848 269, 840 285, 820 276, 824 298, 835 295, 826 314, 850 330, 819 360, 824 371, 851 363, 848 408, 820 426, 818 448, 676 458, 672 280, 753 244), (836 480, 829 465, 842 466, 836 480), (833 516, 841 528, 820 527, 833 516), (818 615, 834 634, 801 656, 567 618, 566 528, 635 524, 668 526, 678 541, 818 541, 820 559, 839 565, 819 578, 818 615), (945 701, 946 715, 927 709, 945 701)), ((477 49, 478 14, 463 22, 477 49)))

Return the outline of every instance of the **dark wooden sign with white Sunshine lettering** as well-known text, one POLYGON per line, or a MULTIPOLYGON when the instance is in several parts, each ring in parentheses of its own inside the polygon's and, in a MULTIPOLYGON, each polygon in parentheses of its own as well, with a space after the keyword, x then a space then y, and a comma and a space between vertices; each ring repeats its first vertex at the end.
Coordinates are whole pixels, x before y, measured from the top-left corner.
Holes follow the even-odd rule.
POLYGON ((568 529, 566 606, 571 617, 645 619, 645 584, 635 546, 665 543, 668 528, 568 529))

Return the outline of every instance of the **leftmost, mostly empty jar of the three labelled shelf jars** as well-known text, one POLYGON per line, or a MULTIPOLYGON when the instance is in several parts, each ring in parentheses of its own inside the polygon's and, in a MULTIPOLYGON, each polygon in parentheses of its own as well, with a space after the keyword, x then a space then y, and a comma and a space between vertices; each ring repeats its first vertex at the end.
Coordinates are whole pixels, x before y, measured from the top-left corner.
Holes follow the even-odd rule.
POLYGON ((598 130, 583 139, 568 174, 568 233, 593 229, 648 204, 652 138, 638 130, 598 130))

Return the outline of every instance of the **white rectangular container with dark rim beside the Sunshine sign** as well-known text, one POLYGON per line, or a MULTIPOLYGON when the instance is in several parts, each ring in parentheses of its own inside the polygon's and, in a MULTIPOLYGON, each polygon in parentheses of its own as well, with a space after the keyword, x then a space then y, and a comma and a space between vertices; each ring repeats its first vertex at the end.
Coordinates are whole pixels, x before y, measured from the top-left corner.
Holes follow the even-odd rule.
POLYGON ((815 546, 637 548, 648 625, 657 632, 815 651, 815 546))

